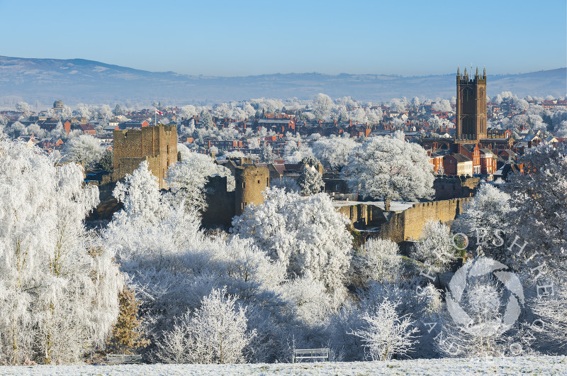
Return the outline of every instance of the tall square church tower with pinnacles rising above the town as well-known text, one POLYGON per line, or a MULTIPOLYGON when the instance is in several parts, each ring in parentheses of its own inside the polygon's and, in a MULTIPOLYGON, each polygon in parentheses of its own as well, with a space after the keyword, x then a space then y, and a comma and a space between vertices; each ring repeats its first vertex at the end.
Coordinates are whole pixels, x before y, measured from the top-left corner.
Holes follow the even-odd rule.
MULTIPOLYGON (((472 74, 472 72, 471 72, 472 74)), ((482 77, 478 67, 469 79, 456 70, 456 135, 458 143, 473 143, 486 138, 486 70, 482 77)))

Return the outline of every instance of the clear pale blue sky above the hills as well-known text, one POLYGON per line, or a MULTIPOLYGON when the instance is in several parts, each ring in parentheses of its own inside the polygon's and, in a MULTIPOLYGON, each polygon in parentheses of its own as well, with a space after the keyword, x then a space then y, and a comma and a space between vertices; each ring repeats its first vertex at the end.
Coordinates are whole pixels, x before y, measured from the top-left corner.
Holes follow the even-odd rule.
POLYGON ((566 3, 0 0, 0 55, 217 76, 531 72, 567 66, 566 3))

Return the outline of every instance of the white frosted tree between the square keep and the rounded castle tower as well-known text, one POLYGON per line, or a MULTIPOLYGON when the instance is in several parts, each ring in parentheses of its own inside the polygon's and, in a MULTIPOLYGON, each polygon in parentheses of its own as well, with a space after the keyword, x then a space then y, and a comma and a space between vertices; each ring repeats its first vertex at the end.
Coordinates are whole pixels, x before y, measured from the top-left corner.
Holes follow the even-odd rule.
POLYGON ((167 170, 167 185, 186 205, 203 210, 206 207, 205 184, 211 176, 227 177, 228 189, 234 189, 235 179, 228 168, 215 164, 208 155, 186 153, 181 162, 167 170))

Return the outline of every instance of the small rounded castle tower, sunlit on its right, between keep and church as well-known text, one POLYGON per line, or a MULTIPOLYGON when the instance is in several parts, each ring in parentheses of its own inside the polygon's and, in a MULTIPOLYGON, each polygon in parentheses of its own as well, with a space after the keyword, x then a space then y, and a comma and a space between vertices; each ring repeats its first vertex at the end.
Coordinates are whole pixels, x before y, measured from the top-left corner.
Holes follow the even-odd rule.
POLYGON ((270 171, 267 167, 237 167, 235 183, 235 215, 240 216, 249 204, 264 202, 262 191, 270 186, 270 171))

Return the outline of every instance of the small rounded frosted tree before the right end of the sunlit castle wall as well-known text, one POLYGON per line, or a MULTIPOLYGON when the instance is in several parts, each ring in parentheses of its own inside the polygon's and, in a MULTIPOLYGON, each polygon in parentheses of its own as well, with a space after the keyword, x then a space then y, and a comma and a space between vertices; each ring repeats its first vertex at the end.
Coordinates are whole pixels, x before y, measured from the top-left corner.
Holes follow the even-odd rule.
POLYGON ((427 265, 432 272, 442 272, 456 258, 456 248, 449 227, 439 221, 427 221, 422 236, 413 246, 412 257, 427 265))

